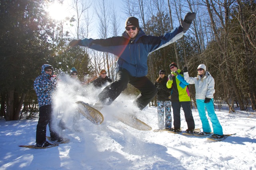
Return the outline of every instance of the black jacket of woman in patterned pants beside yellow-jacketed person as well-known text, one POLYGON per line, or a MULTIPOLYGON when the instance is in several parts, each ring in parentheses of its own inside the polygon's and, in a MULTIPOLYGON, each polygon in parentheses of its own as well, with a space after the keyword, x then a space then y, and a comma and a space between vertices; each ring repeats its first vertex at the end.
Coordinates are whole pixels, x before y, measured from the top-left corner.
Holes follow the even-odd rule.
POLYGON ((166 86, 167 80, 168 80, 167 76, 164 76, 160 83, 155 81, 155 87, 157 88, 157 100, 160 100, 160 101, 170 100, 169 96, 171 94, 170 93, 171 88, 167 88, 166 86))

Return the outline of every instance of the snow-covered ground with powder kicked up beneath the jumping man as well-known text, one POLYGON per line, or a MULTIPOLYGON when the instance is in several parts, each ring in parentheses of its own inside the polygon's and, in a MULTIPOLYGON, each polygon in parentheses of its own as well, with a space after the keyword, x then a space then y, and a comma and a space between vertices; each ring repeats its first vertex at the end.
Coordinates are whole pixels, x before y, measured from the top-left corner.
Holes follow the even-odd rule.
MULTIPOLYGON (((94 125, 81 116, 77 122, 81 132, 76 132, 72 130, 75 101, 94 102, 98 91, 89 90, 90 95, 85 92, 87 97, 82 98, 70 96, 67 91, 74 88, 61 85, 56 94, 55 112, 58 121, 64 115, 68 129, 60 132, 70 143, 49 149, 18 147, 35 144, 38 119, 4 121, 2 118, 0 170, 256 170, 256 114, 253 111, 216 111, 224 134, 236 135, 214 142, 206 137, 139 131, 113 119, 112 113, 134 109, 133 99, 121 95, 101 110, 105 118, 101 125, 94 125), (62 107, 65 109, 60 109, 62 107)), ((196 128, 201 127, 197 110, 193 108, 192 113, 196 128)), ((136 115, 152 129, 158 128, 156 107, 146 107, 136 115)), ((187 129, 183 111, 181 126, 187 129)))

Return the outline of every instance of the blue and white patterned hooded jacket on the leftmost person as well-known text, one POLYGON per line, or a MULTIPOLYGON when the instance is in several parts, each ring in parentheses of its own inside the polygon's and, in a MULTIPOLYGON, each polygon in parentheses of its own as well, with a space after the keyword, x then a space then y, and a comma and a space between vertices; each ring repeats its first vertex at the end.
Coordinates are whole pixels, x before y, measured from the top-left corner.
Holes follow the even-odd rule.
POLYGON ((52 75, 49 75, 44 71, 44 68, 48 66, 51 65, 42 65, 42 74, 34 81, 34 89, 38 97, 39 107, 52 104, 52 92, 57 84, 56 75, 53 75, 54 72, 52 72, 52 75))

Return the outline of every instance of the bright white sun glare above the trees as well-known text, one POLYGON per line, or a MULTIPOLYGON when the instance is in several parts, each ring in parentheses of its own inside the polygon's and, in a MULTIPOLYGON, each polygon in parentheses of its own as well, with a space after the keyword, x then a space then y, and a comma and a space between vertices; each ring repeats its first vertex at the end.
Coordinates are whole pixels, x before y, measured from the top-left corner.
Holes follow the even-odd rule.
POLYGON ((64 6, 57 2, 48 7, 48 12, 54 20, 63 20, 67 15, 64 6))

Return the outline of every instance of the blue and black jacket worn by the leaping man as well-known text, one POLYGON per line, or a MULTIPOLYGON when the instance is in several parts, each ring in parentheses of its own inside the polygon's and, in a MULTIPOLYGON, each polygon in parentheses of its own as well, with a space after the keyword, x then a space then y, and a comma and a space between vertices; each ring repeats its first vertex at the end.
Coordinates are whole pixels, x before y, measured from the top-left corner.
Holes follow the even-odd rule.
POLYGON ((148 72, 148 55, 177 41, 183 37, 183 34, 181 26, 159 37, 146 35, 140 28, 135 39, 131 39, 124 32, 122 36, 107 39, 83 39, 79 42, 79 45, 97 51, 112 53, 118 58, 116 72, 120 69, 125 69, 133 77, 143 77, 148 72))

